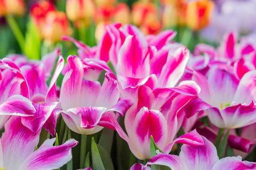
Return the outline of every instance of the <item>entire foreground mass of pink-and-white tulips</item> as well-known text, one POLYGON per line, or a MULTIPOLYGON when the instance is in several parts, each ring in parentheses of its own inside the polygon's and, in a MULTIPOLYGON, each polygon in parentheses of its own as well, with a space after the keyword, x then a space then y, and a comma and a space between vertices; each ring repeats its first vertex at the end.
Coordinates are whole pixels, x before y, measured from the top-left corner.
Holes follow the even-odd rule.
MULTIPOLYGON (((255 145, 254 44, 238 43, 230 33, 218 49, 198 44, 192 55, 172 41, 171 30, 146 36, 132 25, 109 24, 106 30, 94 47, 63 37, 79 54, 66 64, 58 49, 40 61, 21 55, 0 61, 2 169, 52 170, 67 163, 78 142, 55 141, 59 119, 81 135, 115 130, 145 160, 130 170, 256 169, 239 156, 255 145), (42 128, 50 139, 37 148, 42 128), (177 144, 183 144, 179 156, 177 144)), ((110 169, 99 160, 100 154, 92 156, 92 169, 110 169)))

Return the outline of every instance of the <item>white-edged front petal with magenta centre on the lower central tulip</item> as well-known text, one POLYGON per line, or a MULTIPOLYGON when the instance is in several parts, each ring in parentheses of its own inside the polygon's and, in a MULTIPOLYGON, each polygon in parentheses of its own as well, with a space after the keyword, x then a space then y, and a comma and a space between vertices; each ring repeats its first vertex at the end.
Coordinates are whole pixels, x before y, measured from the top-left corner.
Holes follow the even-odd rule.
POLYGON ((165 117, 158 110, 148 110, 143 107, 137 113, 131 130, 126 127, 130 140, 136 146, 136 152, 133 153, 139 159, 150 158, 150 136, 159 148, 164 148, 167 139, 167 122, 165 117))

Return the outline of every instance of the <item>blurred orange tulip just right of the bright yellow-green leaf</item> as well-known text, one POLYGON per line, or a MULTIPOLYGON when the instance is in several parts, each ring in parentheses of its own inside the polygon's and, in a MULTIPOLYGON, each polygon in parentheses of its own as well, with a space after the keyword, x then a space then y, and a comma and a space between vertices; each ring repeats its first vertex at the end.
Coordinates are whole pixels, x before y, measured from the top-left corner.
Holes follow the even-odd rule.
POLYGON ((43 27, 43 37, 49 42, 61 41, 63 35, 70 36, 72 29, 64 12, 51 11, 47 13, 43 27))

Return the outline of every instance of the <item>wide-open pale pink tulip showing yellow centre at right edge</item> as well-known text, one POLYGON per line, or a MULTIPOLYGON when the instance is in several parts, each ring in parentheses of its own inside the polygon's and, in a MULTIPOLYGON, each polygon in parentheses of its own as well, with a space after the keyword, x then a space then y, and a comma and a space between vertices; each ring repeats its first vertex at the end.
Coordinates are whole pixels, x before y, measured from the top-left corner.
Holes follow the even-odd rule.
POLYGON ((219 128, 240 128, 256 122, 255 71, 246 73, 240 81, 227 71, 213 67, 206 79, 194 73, 192 79, 201 87, 201 97, 211 105, 204 110, 219 128))

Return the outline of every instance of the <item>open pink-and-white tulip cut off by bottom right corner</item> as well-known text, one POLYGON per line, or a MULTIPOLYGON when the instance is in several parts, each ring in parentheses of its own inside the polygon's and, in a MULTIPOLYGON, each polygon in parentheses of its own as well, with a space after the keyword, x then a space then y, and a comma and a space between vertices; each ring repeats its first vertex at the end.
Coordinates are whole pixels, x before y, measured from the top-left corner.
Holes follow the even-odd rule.
MULTIPOLYGON (((152 157, 146 165, 164 165, 172 170, 256 169, 256 163, 242 161, 240 156, 219 159, 215 146, 205 137, 202 138, 204 140, 203 146, 190 146, 183 144, 179 156, 159 153, 152 157)), ((139 168, 132 170, 139 170, 139 168)))

